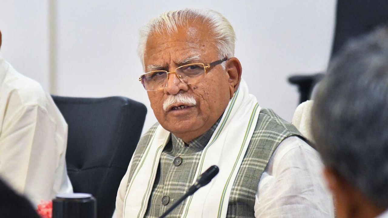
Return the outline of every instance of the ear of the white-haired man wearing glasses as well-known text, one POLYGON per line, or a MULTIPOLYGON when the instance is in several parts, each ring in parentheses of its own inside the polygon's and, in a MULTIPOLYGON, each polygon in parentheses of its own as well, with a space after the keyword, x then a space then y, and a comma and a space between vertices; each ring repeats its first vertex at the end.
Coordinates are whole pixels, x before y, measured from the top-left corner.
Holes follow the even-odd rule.
POLYGON ((228 59, 225 64, 225 70, 229 75, 230 98, 232 98, 241 81, 242 68, 239 59, 236 57, 228 59))

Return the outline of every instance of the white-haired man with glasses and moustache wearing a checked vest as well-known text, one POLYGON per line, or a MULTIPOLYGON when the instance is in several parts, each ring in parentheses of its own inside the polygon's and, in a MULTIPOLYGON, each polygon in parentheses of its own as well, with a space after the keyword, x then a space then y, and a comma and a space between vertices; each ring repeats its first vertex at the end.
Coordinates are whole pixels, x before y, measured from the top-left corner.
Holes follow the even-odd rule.
POLYGON ((165 12, 142 30, 140 76, 158 123, 140 139, 118 217, 158 217, 211 165, 218 175, 170 217, 331 217, 317 152, 241 79, 235 34, 215 11, 165 12))

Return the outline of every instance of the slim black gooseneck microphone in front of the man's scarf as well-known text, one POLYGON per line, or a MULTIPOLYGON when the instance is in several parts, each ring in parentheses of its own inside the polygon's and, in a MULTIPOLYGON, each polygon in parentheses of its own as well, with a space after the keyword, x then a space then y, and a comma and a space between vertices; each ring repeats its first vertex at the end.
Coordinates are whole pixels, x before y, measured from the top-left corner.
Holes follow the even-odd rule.
POLYGON ((171 206, 171 208, 168 208, 168 210, 166 210, 166 212, 163 213, 159 218, 166 217, 169 213, 171 213, 173 209, 175 209, 187 197, 194 194, 194 192, 196 192, 201 187, 207 185, 214 178, 214 176, 217 175, 218 171, 220 171, 220 169, 216 165, 209 167, 206 171, 204 171, 201 175, 198 176, 196 182, 194 182, 194 184, 189 188, 189 190, 187 190, 187 192, 180 199, 178 199, 171 206))

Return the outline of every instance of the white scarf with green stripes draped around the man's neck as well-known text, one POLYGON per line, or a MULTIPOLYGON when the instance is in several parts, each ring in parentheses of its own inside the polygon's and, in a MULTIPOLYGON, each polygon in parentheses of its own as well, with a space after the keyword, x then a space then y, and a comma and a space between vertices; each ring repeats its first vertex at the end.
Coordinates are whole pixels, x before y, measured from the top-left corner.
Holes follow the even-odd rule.
MULTIPOLYGON (((210 141, 204 148, 196 178, 212 165, 220 169, 211 182, 185 201, 182 218, 217 217, 227 214, 230 191, 256 127, 261 107, 241 80, 210 141)), ((141 218, 147 209, 156 171, 170 132, 158 126, 140 159, 124 199, 124 218, 141 218), (127 199, 128 196, 130 199, 127 199)))

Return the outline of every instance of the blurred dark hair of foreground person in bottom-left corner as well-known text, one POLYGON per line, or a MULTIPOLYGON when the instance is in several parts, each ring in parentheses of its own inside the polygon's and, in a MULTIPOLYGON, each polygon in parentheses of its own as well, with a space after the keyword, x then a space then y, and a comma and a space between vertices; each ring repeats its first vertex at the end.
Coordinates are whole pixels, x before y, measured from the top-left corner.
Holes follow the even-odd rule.
POLYGON ((40 218, 31 203, 0 179, 1 218, 40 218))

